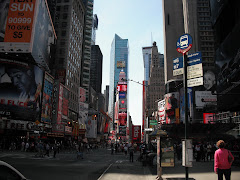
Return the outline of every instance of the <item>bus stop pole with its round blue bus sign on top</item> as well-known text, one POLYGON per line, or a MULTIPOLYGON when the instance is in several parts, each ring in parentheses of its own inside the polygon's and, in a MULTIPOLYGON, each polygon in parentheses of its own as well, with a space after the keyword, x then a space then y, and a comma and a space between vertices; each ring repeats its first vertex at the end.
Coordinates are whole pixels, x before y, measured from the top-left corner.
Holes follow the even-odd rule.
MULTIPOLYGON (((178 38, 177 51, 183 54, 183 79, 184 79, 184 110, 185 110, 185 141, 187 140, 187 124, 188 124, 188 104, 187 104, 187 55, 186 53, 192 47, 192 37, 189 34, 183 34, 178 38)), ((184 148, 186 149, 186 148, 184 148)), ((185 151, 185 157, 187 156, 185 151)), ((188 180, 188 167, 185 166, 185 176, 188 180)))

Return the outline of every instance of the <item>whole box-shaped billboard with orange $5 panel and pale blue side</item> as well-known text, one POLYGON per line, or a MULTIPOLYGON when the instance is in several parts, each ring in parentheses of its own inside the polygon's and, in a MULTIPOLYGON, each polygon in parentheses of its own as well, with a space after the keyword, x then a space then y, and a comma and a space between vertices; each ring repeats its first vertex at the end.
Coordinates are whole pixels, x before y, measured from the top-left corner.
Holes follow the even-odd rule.
POLYGON ((29 53, 49 69, 56 34, 46 0, 3 0, 0 5, 0 52, 29 53))

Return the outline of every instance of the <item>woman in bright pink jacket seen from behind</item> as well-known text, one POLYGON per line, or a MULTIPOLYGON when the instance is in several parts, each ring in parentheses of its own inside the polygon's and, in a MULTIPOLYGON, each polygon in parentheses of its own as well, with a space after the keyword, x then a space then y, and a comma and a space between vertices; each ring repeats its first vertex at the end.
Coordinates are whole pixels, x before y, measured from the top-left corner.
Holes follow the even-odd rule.
POLYGON ((225 142, 219 140, 217 142, 218 150, 215 151, 214 155, 214 171, 218 174, 218 180, 223 180, 223 175, 226 180, 231 179, 231 165, 234 160, 232 153, 225 149, 225 142), (228 156, 232 157, 232 162, 228 161, 228 156))

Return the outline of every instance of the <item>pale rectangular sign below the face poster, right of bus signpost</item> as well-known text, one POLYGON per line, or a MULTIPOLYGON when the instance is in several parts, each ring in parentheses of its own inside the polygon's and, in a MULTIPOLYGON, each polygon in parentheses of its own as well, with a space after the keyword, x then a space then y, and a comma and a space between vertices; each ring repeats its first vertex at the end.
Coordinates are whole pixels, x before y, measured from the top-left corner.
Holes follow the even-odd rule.
POLYGON ((195 102, 197 108, 203 108, 207 105, 216 105, 217 95, 212 95, 211 91, 196 91, 195 102))

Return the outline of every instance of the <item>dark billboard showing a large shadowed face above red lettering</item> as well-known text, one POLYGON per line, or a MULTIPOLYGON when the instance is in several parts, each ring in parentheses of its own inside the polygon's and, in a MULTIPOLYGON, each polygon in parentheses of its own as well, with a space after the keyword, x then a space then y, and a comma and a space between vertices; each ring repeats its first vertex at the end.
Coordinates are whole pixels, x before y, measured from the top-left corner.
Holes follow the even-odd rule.
POLYGON ((1 116, 40 121, 43 71, 37 66, 0 59, 1 116))

